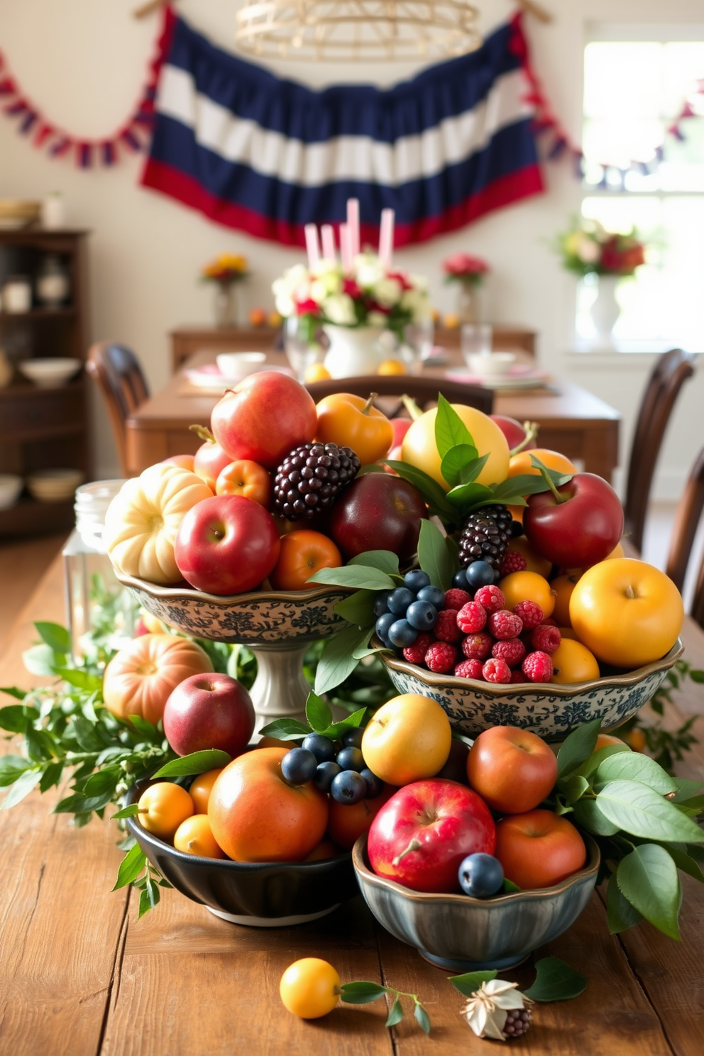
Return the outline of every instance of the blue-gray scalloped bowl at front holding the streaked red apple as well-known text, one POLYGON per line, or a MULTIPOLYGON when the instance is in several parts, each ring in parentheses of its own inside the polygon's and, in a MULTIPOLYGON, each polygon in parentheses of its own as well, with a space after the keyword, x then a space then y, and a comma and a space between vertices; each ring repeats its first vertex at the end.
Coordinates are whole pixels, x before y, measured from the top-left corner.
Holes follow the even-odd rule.
POLYGON ((421 957, 452 972, 509 968, 574 924, 596 884, 600 850, 585 836, 584 869, 554 887, 493 899, 423 894, 369 867, 366 835, 353 847, 353 864, 364 901, 387 931, 415 946, 421 957))

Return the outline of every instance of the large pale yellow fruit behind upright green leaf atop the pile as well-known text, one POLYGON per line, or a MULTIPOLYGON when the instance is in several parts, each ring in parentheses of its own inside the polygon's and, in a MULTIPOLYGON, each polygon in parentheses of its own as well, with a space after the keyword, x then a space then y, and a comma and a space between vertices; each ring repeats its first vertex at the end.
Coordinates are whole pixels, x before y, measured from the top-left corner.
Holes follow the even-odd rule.
MULTIPOLYGON (((464 407, 461 403, 453 403, 452 408, 467 426, 479 457, 489 455, 476 483, 490 485, 506 480, 509 472, 509 444, 496 422, 476 408, 464 407)), ((435 441, 437 414, 437 408, 434 408, 414 421, 403 437, 401 457, 403 461, 422 469, 449 491, 450 485, 442 476, 440 469, 442 459, 435 441)))

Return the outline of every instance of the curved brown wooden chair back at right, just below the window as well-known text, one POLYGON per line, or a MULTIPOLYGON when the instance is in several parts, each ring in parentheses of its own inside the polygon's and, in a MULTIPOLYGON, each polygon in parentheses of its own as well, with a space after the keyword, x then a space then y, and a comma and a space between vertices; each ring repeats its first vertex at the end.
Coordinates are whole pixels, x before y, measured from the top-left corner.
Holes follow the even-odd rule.
POLYGON ((626 482, 625 530, 633 546, 643 548, 643 528, 648 510, 655 463, 667 422, 682 385, 695 373, 696 357, 682 348, 664 353, 655 364, 641 401, 626 482))

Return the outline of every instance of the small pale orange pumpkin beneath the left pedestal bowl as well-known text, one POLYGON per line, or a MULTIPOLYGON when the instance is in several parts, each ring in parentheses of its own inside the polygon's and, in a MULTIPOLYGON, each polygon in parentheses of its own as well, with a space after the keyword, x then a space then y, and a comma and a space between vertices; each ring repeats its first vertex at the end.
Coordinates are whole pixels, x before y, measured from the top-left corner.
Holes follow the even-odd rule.
POLYGON ((140 715, 156 724, 179 682, 212 670, 208 655, 188 638, 141 635, 106 667, 102 699, 108 711, 118 718, 140 715))

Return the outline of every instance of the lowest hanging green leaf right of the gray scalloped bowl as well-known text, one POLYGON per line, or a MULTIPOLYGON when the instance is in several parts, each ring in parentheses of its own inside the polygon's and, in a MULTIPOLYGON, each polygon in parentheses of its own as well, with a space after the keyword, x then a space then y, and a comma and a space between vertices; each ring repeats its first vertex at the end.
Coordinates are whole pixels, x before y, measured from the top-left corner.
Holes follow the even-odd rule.
POLYGON ((619 890, 653 927, 680 938, 682 889, 677 866, 664 847, 642 844, 619 863, 619 890))

